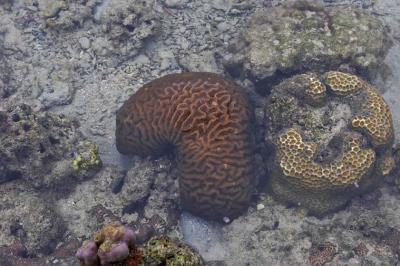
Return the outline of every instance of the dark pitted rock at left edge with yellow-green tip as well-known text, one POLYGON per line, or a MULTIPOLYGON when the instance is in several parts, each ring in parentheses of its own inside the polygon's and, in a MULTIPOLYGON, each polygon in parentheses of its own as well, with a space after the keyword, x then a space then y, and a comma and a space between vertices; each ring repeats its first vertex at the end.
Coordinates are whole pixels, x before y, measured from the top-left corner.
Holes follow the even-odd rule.
POLYGON ((58 188, 102 164, 76 122, 24 104, 0 111, 0 146, 0 184, 21 179, 36 189, 58 188))

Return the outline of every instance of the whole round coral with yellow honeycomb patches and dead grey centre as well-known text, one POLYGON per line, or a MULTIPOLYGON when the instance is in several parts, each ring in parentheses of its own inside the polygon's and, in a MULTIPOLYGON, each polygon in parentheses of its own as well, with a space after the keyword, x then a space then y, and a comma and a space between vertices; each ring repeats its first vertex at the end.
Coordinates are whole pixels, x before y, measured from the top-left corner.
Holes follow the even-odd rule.
POLYGON ((375 187, 393 168, 389 107, 359 77, 297 75, 274 87, 268 101, 277 198, 323 215, 375 187), (282 115, 280 105, 288 103, 289 114, 282 115))

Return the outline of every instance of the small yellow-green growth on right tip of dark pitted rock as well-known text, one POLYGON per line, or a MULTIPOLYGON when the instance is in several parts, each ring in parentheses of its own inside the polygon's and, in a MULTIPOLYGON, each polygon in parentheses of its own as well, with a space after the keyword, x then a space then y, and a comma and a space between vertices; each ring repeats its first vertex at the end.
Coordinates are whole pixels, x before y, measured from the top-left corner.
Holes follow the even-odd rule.
POLYGON ((88 140, 83 143, 83 146, 85 150, 75 156, 72 161, 72 169, 75 172, 80 172, 100 168, 102 161, 99 155, 99 147, 88 140))

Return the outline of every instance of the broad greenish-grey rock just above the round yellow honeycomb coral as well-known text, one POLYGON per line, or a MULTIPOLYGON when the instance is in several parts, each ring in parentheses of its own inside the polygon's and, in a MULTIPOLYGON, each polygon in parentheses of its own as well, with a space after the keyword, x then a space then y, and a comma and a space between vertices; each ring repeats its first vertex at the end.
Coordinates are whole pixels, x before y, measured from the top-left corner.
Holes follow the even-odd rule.
POLYGON ((378 19, 354 7, 293 2, 252 15, 223 55, 228 70, 242 69, 256 82, 281 73, 325 72, 343 62, 366 74, 380 70, 391 41, 378 19))

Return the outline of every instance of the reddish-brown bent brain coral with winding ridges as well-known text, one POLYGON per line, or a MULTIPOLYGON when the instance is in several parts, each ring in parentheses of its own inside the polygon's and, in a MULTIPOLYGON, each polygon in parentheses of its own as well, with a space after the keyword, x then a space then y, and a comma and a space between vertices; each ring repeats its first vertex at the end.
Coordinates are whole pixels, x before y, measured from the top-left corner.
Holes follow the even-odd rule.
POLYGON ((184 209, 234 218, 254 187, 252 116, 241 89, 218 75, 167 75, 144 85, 118 111, 117 149, 148 156, 172 145, 184 209))

